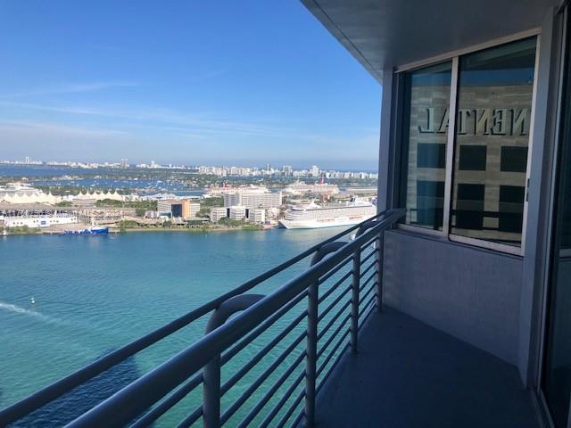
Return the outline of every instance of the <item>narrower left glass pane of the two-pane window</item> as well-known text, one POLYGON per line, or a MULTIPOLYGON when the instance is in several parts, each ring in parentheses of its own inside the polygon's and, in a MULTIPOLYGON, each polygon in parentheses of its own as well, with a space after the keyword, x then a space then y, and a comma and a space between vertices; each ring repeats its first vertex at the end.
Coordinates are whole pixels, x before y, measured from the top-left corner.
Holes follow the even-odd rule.
POLYGON ((451 62, 404 77, 401 206, 405 222, 443 228, 451 62))

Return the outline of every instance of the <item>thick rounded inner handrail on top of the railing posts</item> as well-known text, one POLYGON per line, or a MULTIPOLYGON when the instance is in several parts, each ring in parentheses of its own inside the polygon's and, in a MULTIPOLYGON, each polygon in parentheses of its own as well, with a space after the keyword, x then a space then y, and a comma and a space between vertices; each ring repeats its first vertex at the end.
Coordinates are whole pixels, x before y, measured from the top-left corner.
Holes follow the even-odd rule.
POLYGON ((387 211, 382 221, 377 222, 376 226, 356 237, 354 241, 345 243, 339 250, 320 260, 275 292, 269 293, 249 309, 245 309, 236 317, 229 319, 224 325, 220 325, 211 333, 204 335, 185 350, 178 352, 160 366, 155 367, 135 382, 113 394, 109 399, 103 400, 79 416, 70 426, 99 427, 105 425, 111 428, 127 424, 145 408, 153 406, 156 401, 187 379, 189 375, 200 370, 215 355, 226 350, 228 346, 251 332, 260 324, 261 320, 270 317, 287 302, 306 290, 310 284, 319 281, 320 276, 349 257, 361 243, 368 242, 374 236, 378 236, 393 226, 394 222, 401 218, 405 212, 403 209, 387 211), (132 399, 133 396, 136 396, 137 399, 132 399))

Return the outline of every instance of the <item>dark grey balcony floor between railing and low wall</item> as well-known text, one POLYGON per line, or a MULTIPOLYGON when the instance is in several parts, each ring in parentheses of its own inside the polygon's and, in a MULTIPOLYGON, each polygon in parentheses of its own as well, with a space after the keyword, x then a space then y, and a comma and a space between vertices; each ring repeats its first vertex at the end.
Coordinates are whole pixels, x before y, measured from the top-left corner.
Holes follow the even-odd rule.
POLYGON ((537 427, 517 368, 393 309, 372 314, 318 397, 322 427, 537 427))

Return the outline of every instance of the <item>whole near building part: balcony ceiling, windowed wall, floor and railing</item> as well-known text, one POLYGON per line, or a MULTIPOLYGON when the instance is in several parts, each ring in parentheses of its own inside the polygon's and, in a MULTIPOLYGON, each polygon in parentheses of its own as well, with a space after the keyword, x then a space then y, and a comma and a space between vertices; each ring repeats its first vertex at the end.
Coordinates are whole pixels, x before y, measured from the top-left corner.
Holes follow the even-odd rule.
POLYGON ((188 391, 184 425, 570 426, 571 4, 302 3, 383 85, 376 221, 6 408, 0 425, 210 319, 73 426, 149 425, 188 391), (249 346, 264 332, 271 342, 249 346))

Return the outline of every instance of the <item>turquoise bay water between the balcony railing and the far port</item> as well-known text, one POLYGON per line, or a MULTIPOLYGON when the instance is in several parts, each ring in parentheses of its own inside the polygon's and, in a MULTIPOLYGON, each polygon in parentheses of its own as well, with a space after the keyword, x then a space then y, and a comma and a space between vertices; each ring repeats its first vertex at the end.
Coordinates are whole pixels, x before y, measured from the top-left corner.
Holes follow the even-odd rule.
MULTIPOLYGON (((0 407, 338 232, 0 237, 0 407)), ((270 292, 307 266, 261 291, 270 292)), ((123 383, 184 349, 203 328, 197 323, 137 355, 126 363, 123 383)), ((53 417, 46 416, 45 425, 57 425, 53 417)))

